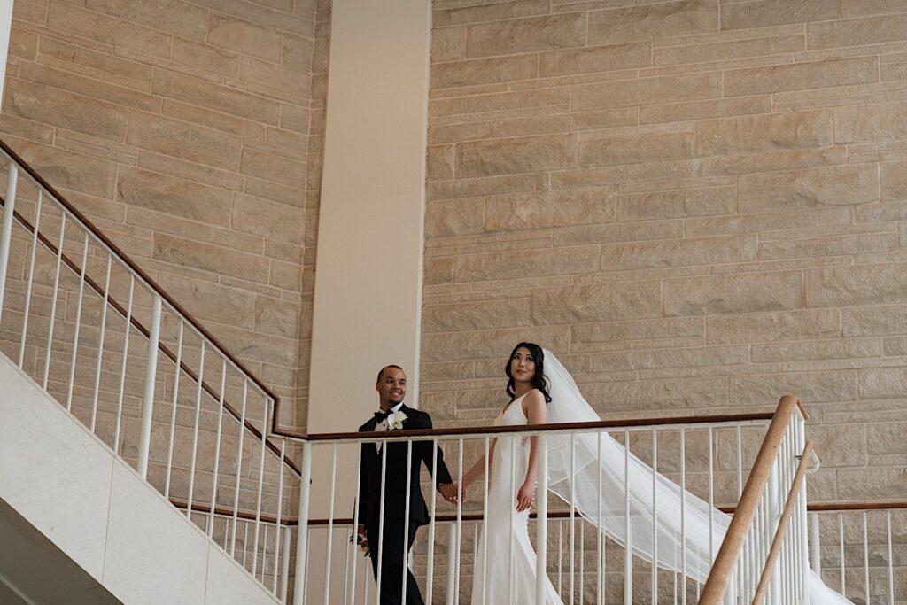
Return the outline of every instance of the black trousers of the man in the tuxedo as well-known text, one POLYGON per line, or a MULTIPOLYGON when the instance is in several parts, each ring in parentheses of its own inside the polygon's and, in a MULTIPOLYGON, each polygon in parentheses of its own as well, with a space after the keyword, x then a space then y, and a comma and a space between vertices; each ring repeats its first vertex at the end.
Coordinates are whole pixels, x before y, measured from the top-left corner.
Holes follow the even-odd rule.
MULTIPOLYGON (((381 605, 403 605, 403 570, 409 549, 413 546, 415 532, 421 526, 409 521, 409 535, 403 543, 404 519, 385 519, 384 540, 381 549, 381 580, 378 580, 378 525, 366 527, 375 581, 381 584, 381 605), (405 549, 405 550, 404 550, 405 549)), ((406 605, 424 605, 422 593, 415 583, 413 572, 406 570, 406 605)))

